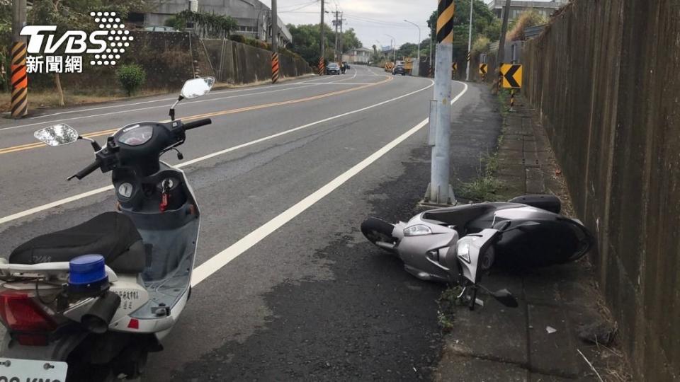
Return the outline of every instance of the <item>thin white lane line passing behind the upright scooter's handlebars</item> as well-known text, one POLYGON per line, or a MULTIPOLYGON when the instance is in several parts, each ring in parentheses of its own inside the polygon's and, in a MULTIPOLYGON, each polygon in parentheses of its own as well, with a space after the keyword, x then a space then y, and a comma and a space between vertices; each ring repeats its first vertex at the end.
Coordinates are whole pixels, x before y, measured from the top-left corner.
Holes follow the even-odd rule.
MULTIPOLYGON (((244 143, 244 144, 239 144, 239 145, 237 145, 237 146, 229 147, 229 149, 224 149, 224 150, 221 150, 221 151, 216 151, 216 152, 214 152, 214 153, 212 153, 212 154, 208 154, 208 155, 205 155, 205 156, 200 156, 199 158, 191 159, 191 161, 186 161, 186 162, 183 162, 183 163, 179 163, 176 167, 181 168, 181 167, 184 167, 184 166, 189 166, 189 165, 192 165, 193 163, 198 163, 198 162, 201 162, 201 161, 205 161, 205 160, 210 159, 210 158, 213 158, 213 157, 215 157, 215 156, 220 156, 220 155, 222 155, 222 154, 227 154, 227 153, 229 153, 229 152, 231 152, 231 151, 234 151, 234 150, 243 149, 244 147, 252 146, 252 145, 254 145, 254 144, 259 144, 260 142, 263 142, 263 141, 268 141, 268 140, 270 140, 270 139, 278 138, 278 137, 281 137, 281 136, 283 136, 283 135, 285 135, 285 134, 290 134, 290 133, 292 133, 292 132, 297 132, 298 130, 306 129, 307 127, 312 127, 312 126, 314 126, 314 125, 319 125, 319 124, 324 123, 324 122, 328 122, 328 121, 331 121, 331 120, 336 120, 337 118, 346 117, 347 115, 356 114, 357 112, 363 112, 363 111, 365 111, 365 110, 377 108, 378 106, 385 105, 386 103, 390 103, 390 102, 393 102, 393 101, 395 101, 395 100, 400 100, 400 99, 402 99, 402 98, 404 98, 404 97, 412 96, 412 95, 414 95, 415 93, 419 93, 419 92, 424 91, 424 90, 426 90, 426 89, 428 89, 428 88, 431 88, 431 87, 433 86, 434 82, 433 82, 432 80, 429 80, 429 81, 430 81, 430 84, 429 84, 428 86, 426 86, 426 87, 424 87, 424 88, 420 88, 420 89, 418 89, 418 90, 416 90, 416 91, 412 91, 411 93, 406 93, 406 94, 404 94, 404 95, 402 95, 402 96, 398 96, 398 97, 392 98, 392 99, 390 99, 390 100, 385 100, 385 101, 382 101, 382 102, 380 102, 380 103, 375 103, 375 104, 373 104, 373 105, 366 106, 365 108, 352 110, 352 111, 350 111, 350 112, 344 112, 344 113, 339 114, 339 115, 334 115, 333 117, 324 118, 323 120, 318 120, 318 121, 316 121, 316 122, 311 122, 311 123, 308 123, 307 125, 302 125, 302 126, 294 127, 293 129, 288 129, 288 130, 285 130, 284 132, 279 132, 279 133, 276 133, 276 134, 271 134, 271 135, 269 135, 269 136, 267 136, 267 137, 255 139, 254 141, 249 141, 249 142, 246 142, 246 143, 244 143)), ((467 88, 467 86, 466 86, 466 88, 467 88)), ((16 219, 21 219, 21 218, 23 218, 23 217, 26 217, 26 216, 29 216, 29 215, 32 215, 32 214, 37 214, 38 212, 42 212, 42 211, 45 211, 45 210, 47 210, 47 209, 52 209, 52 208, 54 208, 54 207, 59 207, 59 206, 62 206, 62 205, 64 205, 64 204, 67 204, 67 203, 70 203, 70 202, 75 202, 75 201, 77 201, 77 200, 79 200, 79 199, 83 199, 83 198, 85 198, 85 197, 90 197, 90 196, 92 196, 92 195, 97 195, 97 194, 100 194, 101 192, 106 192, 106 191, 108 191, 108 190, 113 190, 113 186, 106 186, 106 187, 97 188, 96 190, 91 190, 91 191, 88 191, 88 192, 83 192, 82 194, 78 194, 78 195, 74 195, 74 196, 72 196, 72 197, 67 197, 67 198, 64 198, 64 199, 56 200, 55 202, 43 204, 42 206, 38 206, 38 207, 33 207, 33 208, 31 208, 31 209, 27 209, 26 211, 17 212, 16 214, 11 214, 11 215, 8 215, 8 216, 4 216, 4 217, 0 218, 0 224, 8 223, 9 221, 13 221, 13 220, 16 220, 16 219)))

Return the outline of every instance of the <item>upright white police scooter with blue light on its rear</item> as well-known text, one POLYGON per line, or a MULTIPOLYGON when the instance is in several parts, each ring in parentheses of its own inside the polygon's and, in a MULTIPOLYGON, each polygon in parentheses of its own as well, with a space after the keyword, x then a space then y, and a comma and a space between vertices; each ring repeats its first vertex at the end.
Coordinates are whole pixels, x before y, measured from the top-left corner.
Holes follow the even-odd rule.
POLYGON ((94 162, 68 180, 111 172, 118 211, 35 237, 0 260, 0 380, 139 379, 147 354, 162 350, 191 295, 200 212, 183 171, 159 157, 211 123, 175 120, 174 108, 214 82, 186 81, 170 122, 127 125, 103 147, 68 125, 35 132, 49 146, 90 141, 94 162))

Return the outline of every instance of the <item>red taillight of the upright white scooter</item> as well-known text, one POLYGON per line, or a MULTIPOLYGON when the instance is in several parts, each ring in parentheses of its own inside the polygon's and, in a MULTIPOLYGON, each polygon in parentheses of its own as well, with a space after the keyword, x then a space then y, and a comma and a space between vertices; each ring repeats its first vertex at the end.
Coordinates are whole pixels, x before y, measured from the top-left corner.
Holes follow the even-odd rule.
POLYGON ((34 332, 51 332, 57 328, 57 323, 38 306, 33 299, 21 291, 5 290, 0 292, 0 319, 12 332, 22 332, 17 340, 22 343, 21 337, 28 335, 28 340, 22 345, 37 344, 33 338, 34 332))

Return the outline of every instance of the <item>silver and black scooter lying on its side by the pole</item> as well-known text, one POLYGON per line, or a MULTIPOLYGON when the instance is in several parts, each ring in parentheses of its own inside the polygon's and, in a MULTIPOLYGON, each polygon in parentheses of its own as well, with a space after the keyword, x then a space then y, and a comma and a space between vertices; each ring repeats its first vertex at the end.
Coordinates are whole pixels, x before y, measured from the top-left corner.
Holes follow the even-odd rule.
MULTIPOLYGON (((470 307, 480 277, 492 266, 541 267, 579 259, 594 237, 577 219, 560 214, 560 199, 526 195, 509 202, 466 204, 421 212, 390 224, 369 217, 361 224, 368 241, 398 255, 419 279, 460 284, 470 307)), ((516 306, 509 291, 491 292, 516 306)))

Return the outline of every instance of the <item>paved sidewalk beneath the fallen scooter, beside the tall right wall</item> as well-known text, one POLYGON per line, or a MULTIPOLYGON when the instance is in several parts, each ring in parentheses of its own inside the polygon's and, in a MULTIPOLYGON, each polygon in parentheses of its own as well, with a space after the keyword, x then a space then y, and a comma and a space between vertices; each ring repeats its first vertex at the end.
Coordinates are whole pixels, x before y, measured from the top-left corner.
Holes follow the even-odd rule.
MULTIPOLYGON (((570 215, 568 192, 545 130, 521 103, 520 98, 518 111, 504 117, 497 156, 499 199, 554 194, 562 199, 562 213, 570 215)), ((433 374, 436 381, 599 381, 584 357, 604 381, 626 381, 621 352, 610 343, 616 325, 607 320, 587 259, 496 271, 484 284, 492 290, 508 288, 519 308, 505 308, 485 294, 485 306, 475 311, 454 306, 453 325, 433 374)))

